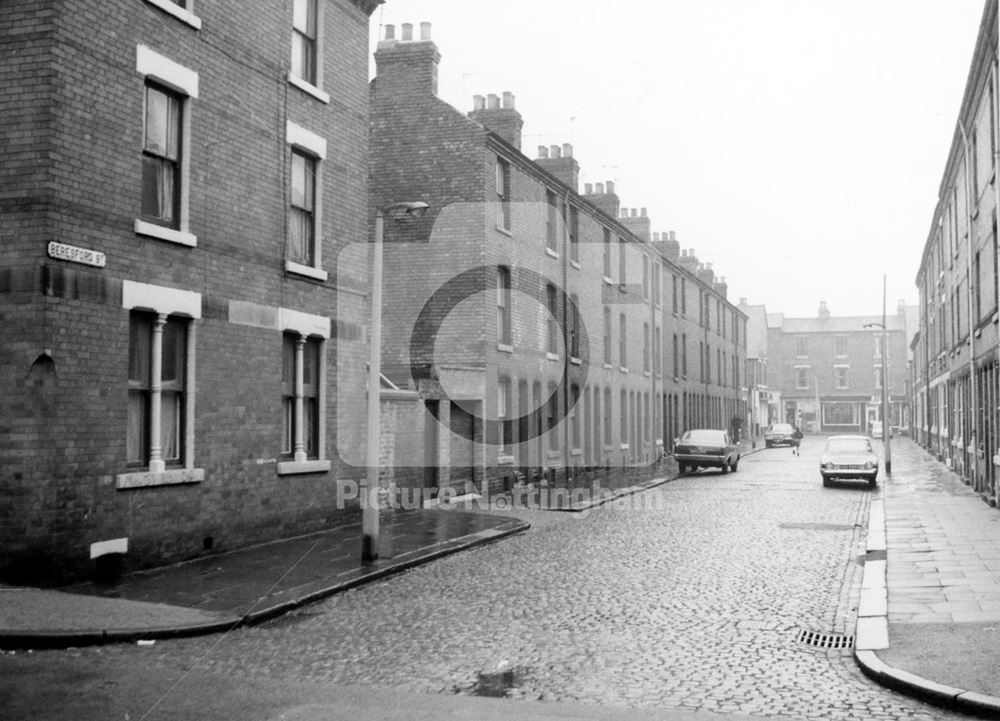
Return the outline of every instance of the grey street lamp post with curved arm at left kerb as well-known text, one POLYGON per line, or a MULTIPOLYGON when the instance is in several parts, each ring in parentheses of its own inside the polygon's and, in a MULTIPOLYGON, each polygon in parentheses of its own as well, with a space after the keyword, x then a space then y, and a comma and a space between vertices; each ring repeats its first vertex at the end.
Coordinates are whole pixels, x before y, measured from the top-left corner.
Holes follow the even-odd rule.
POLYGON ((367 474, 361 494, 361 560, 378 558, 379 503, 378 450, 380 426, 380 389, 382 387, 382 244, 385 214, 397 218, 420 217, 427 212, 427 203, 393 203, 375 213, 375 245, 372 248, 372 327, 368 348, 368 439, 365 463, 367 474))

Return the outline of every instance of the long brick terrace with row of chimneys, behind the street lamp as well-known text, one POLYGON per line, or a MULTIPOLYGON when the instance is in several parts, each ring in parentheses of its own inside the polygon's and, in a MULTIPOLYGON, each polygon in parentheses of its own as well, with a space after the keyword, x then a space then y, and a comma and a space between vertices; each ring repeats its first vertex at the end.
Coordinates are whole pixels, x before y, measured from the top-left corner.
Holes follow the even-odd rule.
POLYGON ((746 318, 725 282, 613 183, 581 193, 571 146, 525 155, 513 94, 467 114, 440 100, 430 25, 395 30, 375 53, 371 206, 430 209, 386 220, 393 480, 589 484, 743 419, 746 318))

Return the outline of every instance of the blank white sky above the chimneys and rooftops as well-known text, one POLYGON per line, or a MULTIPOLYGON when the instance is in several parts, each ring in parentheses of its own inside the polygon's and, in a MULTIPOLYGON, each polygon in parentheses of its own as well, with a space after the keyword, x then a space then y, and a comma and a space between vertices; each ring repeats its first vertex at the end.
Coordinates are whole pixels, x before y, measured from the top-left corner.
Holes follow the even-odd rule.
MULTIPOLYGON (((388 0, 432 24, 438 95, 514 93, 522 149, 569 142, 769 312, 889 312, 914 278, 983 0, 388 0)), ((372 63, 374 65, 374 63, 372 63)), ((374 72, 374 70, 373 70, 374 72)))

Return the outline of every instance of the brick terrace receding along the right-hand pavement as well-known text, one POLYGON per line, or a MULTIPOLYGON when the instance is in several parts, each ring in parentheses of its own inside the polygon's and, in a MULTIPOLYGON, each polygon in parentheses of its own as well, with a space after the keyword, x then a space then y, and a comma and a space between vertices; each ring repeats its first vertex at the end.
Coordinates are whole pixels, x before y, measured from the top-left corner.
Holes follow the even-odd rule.
POLYGON ((984 5, 916 284, 915 437, 1000 502, 997 2, 984 5))

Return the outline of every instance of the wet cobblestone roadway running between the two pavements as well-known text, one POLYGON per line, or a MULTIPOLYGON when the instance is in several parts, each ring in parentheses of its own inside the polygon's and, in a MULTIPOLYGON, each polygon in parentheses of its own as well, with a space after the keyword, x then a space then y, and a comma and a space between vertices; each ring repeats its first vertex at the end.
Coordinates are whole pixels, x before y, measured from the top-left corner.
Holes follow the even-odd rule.
MULTIPOLYGON (((850 650, 872 493, 822 488, 820 441, 751 455, 580 518, 518 511, 526 534, 361 587, 263 627, 82 651, 241 678, 792 719, 937 719, 864 678, 850 650), (639 508, 637 506, 644 506, 639 508)), ((875 493, 879 493, 876 490, 875 493)), ((111 658, 109 658, 109 656, 111 658)), ((954 716, 954 718, 959 718, 954 716)))

